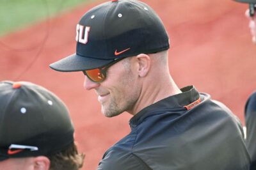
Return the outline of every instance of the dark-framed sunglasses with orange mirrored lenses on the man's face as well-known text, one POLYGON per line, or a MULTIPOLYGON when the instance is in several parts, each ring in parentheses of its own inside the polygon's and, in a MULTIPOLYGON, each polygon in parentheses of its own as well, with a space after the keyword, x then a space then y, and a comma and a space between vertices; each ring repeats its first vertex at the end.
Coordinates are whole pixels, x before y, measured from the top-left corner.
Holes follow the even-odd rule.
POLYGON ((83 73, 88 77, 88 79, 90 79, 93 82, 102 82, 106 79, 108 68, 122 59, 124 58, 116 59, 108 65, 102 66, 100 68, 94 68, 92 70, 83 70, 83 73))

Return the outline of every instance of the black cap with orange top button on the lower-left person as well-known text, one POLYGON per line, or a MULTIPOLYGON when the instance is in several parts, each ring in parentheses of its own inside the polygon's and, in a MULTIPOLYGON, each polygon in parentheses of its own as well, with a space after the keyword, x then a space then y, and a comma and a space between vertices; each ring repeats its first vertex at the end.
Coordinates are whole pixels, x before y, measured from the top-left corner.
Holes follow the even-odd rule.
POLYGON ((0 82, 0 160, 48 156, 74 142, 67 107, 31 82, 0 82))

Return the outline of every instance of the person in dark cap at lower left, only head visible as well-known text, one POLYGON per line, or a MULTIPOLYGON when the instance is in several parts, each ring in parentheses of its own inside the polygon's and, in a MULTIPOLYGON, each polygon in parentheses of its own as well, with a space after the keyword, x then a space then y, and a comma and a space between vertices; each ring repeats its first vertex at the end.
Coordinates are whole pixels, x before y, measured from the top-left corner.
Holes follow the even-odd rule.
POLYGON ((77 170, 83 158, 60 98, 31 82, 0 82, 1 170, 77 170))

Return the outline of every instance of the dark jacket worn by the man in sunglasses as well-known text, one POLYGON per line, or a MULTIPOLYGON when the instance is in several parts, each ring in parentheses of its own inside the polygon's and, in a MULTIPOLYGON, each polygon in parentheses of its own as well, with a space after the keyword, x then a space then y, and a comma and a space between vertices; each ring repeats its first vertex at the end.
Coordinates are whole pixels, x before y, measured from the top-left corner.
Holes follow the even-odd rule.
POLYGON ((236 116, 193 86, 181 90, 131 118, 131 133, 106 151, 98 170, 249 169, 236 116))

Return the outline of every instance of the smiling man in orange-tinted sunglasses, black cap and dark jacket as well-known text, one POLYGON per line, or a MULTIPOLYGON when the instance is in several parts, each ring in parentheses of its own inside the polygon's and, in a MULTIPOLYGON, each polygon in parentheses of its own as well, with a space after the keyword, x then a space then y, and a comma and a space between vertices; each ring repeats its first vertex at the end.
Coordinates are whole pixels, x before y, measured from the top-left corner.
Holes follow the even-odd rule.
POLYGON ((249 168, 236 116, 194 86, 179 89, 173 81, 168 34, 150 6, 100 4, 76 31, 76 54, 51 68, 83 72, 84 88, 95 90, 105 116, 133 115, 131 132, 104 153, 99 170, 249 168))

